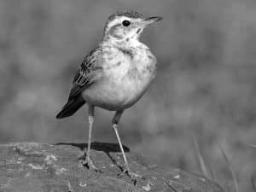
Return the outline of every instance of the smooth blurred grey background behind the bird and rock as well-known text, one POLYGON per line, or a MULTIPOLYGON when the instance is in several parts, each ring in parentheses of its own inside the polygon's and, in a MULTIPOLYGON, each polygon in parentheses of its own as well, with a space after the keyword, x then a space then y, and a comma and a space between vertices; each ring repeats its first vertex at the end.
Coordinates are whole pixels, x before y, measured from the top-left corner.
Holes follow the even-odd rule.
MULTIPOLYGON (((239 190, 253 191, 253 0, 1 0, 1 143, 87 142, 87 107, 68 119, 55 115, 84 56, 102 40, 108 15, 124 9, 164 20, 143 32, 158 58, 158 76, 125 111, 123 143, 189 172, 202 173, 202 157, 227 191, 235 188, 231 167, 239 190)), ((96 109, 94 141, 116 143, 112 116, 96 109)))

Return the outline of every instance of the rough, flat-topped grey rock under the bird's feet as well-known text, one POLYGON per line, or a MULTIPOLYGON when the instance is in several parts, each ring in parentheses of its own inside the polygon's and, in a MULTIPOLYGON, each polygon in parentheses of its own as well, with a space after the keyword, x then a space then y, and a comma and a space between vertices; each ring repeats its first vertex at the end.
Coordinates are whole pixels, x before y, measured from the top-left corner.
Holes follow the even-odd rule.
MULTIPOLYGON (((2 192, 223 192, 206 177, 170 167, 154 165, 142 154, 126 153, 131 169, 144 179, 136 185, 123 175, 118 144, 92 143, 92 160, 102 169, 94 172, 83 166, 84 144, 7 143, 0 145, 0 191, 2 192)), ((129 148, 125 148, 129 151, 129 148)))

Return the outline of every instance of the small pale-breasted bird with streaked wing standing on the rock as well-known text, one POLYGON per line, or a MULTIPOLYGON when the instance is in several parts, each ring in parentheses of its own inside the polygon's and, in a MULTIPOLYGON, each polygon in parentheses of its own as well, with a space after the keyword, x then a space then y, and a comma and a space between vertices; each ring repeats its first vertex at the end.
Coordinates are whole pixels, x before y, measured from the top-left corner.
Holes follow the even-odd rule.
POLYGON ((139 38, 144 28, 161 19, 133 10, 110 15, 102 41, 84 57, 74 75, 67 103, 56 118, 69 117, 87 103, 89 134, 83 164, 91 170, 100 170, 90 158, 90 143, 95 108, 103 108, 115 112, 112 127, 124 159, 123 172, 132 179, 142 177, 131 172, 119 137, 119 120, 124 110, 131 108, 148 90, 156 75, 156 57, 139 38))

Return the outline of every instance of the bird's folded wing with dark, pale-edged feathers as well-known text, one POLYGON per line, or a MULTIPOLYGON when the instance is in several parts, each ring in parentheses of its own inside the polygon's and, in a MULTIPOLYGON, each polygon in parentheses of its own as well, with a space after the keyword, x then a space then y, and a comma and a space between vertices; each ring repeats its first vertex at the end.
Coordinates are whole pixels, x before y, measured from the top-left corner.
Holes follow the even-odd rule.
POLYGON ((96 48, 85 56, 84 61, 77 70, 68 101, 79 96, 83 90, 102 77, 102 49, 96 48))

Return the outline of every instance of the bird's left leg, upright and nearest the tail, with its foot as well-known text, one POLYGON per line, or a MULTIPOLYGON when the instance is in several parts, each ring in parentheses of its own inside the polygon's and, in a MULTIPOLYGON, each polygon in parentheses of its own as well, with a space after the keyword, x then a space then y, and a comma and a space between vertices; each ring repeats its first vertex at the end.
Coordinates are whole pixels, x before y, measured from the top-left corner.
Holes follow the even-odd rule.
POLYGON ((84 166, 88 166, 89 169, 95 170, 96 172, 100 172, 100 170, 93 164, 93 161, 90 159, 91 131, 94 122, 94 106, 88 105, 88 107, 89 136, 85 160, 83 160, 82 163, 84 164, 84 166))

